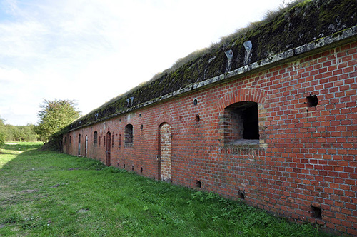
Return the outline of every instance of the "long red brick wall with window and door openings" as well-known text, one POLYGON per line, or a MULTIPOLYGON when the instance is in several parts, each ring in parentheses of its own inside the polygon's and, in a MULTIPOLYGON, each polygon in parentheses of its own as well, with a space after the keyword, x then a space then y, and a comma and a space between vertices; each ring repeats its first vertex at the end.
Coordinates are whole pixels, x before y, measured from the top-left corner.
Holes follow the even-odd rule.
POLYGON ((110 131, 112 166, 159 179, 159 127, 168 123, 172 183, 199 181, 203 190, 357 235, 357 43, 294 60, 71 131, 64 151, 77 155, 81 134, 81 154, 88 136, 87 156, 105 162, 110 131), (225 141, 225 108, 239 101, 258 103, 259 144, 225 141), (134 143, 126 147, 129 123, 134 143))

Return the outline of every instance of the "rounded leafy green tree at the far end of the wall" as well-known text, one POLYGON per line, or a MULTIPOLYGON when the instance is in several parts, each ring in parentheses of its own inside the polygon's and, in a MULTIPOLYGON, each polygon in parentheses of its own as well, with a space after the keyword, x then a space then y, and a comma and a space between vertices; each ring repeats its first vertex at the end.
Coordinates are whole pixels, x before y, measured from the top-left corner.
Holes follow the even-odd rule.
POLYGON ((62 128, 77 119, 80 114, 76 111, 76 104, 71 100, 44 100, 39 111, 39 124, 35 131, 39 134, 40 140, 47 143, 51 136, 59 133, 62 128))

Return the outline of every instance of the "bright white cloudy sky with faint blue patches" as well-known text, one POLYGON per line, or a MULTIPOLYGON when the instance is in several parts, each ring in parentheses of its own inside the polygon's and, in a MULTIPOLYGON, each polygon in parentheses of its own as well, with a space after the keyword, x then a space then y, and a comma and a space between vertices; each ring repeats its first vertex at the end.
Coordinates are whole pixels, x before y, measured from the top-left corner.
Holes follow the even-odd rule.
POLYGON ((44 99, 82 114, 288 0, 0 0, 0 117, 36 124, 44 99))

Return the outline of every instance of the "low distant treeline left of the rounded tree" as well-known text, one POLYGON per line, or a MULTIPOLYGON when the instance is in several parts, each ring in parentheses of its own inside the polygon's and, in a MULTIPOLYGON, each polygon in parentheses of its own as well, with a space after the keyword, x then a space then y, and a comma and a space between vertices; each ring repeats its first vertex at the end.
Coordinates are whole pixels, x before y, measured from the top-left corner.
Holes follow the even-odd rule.
POLYGON ((34 131, 34 125, 14 126, 4 124, 0 118, 0 144, 5 141, 39 141, 39 135, 34 131))

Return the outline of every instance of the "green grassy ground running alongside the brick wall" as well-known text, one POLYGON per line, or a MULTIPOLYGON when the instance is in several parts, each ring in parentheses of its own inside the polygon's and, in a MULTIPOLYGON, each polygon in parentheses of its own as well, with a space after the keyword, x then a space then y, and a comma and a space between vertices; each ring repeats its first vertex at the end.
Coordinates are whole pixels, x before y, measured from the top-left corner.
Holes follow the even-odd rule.
POLYGON ((40 146, 1 146, 0 236, 328 236, 213 193, 40 146))

